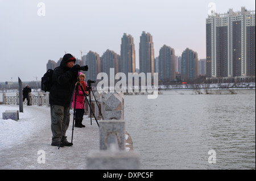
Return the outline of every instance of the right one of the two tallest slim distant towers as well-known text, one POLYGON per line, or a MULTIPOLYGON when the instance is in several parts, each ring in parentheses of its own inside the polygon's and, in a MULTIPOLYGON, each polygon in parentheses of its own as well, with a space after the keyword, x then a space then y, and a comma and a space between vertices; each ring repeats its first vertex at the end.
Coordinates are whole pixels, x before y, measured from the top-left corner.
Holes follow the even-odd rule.
POLYGON ((154 43, 150 33, 142 32, 139 43, 139 71, 154 75, 154 43))

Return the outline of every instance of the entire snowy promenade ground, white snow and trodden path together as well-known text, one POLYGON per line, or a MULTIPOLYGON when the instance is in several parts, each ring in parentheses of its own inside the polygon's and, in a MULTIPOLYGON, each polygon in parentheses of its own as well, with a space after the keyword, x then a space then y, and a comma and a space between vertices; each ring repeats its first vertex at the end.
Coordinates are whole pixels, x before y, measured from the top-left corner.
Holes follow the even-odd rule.
MULTIPOLYGON (((3 120, 2 112, 6 110, 19 110, 19 106, 0 105, 0 170, 86 169, 86 155, 100 148, 98 125, 94 119, 91 125, 90 117, 86 115, 83 121, 86 127, 73 129, 73 146, 58 149, 51 146, 49 107, 24 105, 18 121, 3 120), (45 163, 38 162, 42 151, 45 153, 45 163)), ((73 111, 70 113, 71 122, 66 134, 69 142, 72 138, 73 111)))

